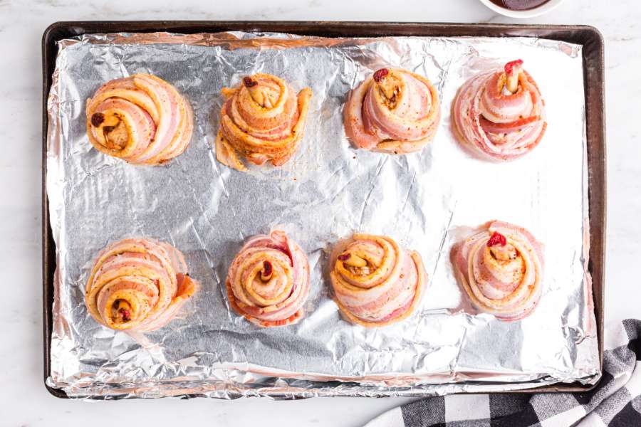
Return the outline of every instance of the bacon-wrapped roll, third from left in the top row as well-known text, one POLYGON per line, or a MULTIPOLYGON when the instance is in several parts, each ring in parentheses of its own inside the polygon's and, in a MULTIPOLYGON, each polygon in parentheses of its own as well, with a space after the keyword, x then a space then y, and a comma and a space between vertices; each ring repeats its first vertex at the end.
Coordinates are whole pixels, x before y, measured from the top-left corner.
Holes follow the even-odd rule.
POLYGON ((441 107, 432 83, 399 68, 381 68, 350 93, 345 133, 359 148, 406 154, 434 138, 441 107))

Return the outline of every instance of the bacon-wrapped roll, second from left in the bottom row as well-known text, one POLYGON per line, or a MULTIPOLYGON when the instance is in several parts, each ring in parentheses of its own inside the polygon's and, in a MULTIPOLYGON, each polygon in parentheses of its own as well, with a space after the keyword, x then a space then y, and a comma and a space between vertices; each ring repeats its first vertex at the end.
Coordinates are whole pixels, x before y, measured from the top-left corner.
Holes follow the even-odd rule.
POLYGON ((231 262, 229 305, 261 327, 292 325, 303 317, 309 295, 309 263, 283 231, 249 239, 231 262))

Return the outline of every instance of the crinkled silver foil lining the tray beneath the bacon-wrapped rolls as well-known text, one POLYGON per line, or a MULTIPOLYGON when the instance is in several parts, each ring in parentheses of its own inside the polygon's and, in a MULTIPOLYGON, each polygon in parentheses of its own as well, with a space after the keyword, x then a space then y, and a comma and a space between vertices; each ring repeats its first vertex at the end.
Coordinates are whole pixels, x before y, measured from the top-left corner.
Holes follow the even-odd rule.
POLYGON ((587 265, 587 167, 581 46, 537 38, 301 38, 284 34, 88 35, 59 43, 48 100, 47 191, 57 246, 51 376, 79 398, 421 396, 501 391, 599 376, 587 265), (522 58, 546 100, 548 130, 527 157, 492 164, 452 135, 450 107, 472 75, 522 58), (350 91, 384 66, 427 76, 442 123, 422 152, 354 149, 350 91), (273 73, 313 90, 306 135, 285 166, 224 167, 212 146, 225 86, 273 73), (187 152, 162 167, 100 154, 85 100, 107 80, 152 73, 194 107, 187 152), (494 218, 545 243, 533 315, 501 322, 467 304, 449 253, 465 227, 494 218), (244 240, 280 226, 308 253, 311 295, 297 325, 260 329, 230 312, 226 270, 244 240), (342 320, 328 251, 353 231, 386 234, 422 255, 429 288, 415 315, 381 329, 342 320), (101 327, 83 288, 96 253, 124 236, 168 241, 201 288, 179 317, 146 334, 101 327))

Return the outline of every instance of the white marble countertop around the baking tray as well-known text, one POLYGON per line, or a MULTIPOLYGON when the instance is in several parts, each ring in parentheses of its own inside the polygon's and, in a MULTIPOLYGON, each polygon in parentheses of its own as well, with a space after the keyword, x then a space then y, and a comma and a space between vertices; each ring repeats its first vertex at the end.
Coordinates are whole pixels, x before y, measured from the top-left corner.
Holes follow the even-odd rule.
MULTIPOLYGON (((42 381, 41 36, 54 21, 114 19, 514 22, 478 0, 0 0, 0 340, 2 426, 361 426, 407 399, 117 401, 56 399, 42 381), (376 6, 373 6, 376 4, 376 6), (393 6, 392 6, 393 5, 393 6), (118 412, 116 412, 118 411, 118 412)), ((641 7, 635 0, 566 0, 525 23, 582 23, 606 38, 608 260, 606 327, 641 317, 633 266, 641 259, 641 7), (627 113, 626 113, 627 111, 627 113), (621 116, 623 115, 623 116, 621 116), (638 144, 638 145, 637 145, 638 144), (637 196, 635 196, 637 194, 637 196)))

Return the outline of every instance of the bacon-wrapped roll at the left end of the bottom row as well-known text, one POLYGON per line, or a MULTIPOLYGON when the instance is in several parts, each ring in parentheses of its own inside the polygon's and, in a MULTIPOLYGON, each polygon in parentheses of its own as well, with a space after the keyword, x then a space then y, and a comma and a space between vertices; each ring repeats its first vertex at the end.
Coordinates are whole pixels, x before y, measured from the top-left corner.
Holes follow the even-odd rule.
POLYGON ((98 254, 85 304, 96 321, 114 330, 156 330, 172 320, 196 286, 176 248, 126 238, 98 254))

